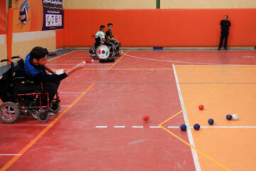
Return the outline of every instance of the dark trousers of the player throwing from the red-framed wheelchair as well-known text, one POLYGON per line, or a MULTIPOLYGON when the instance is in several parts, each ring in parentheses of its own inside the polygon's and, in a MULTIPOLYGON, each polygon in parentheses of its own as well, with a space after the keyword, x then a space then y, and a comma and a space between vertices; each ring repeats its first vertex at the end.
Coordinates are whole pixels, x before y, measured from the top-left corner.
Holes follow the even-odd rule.
MULTIPOLYGON (((48 92, 49 95, 49 103, 54 98, 54 95, 57 93, 58 87, 60 86, 60 81, 55 81, 51 83, 43 83, 43 90, 48 92)), ((42 105, 47 105, 47 96, 42 95, 42 105)))

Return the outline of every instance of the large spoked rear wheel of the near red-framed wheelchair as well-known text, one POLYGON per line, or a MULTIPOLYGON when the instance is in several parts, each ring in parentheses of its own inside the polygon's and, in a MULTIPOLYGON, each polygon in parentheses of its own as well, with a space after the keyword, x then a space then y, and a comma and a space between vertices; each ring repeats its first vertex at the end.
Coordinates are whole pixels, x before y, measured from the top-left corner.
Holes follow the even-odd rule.
POLYGON ((5 102, 0 105, 0 120, 3 123, 14 123, 21 111, 13 102, 5 102))

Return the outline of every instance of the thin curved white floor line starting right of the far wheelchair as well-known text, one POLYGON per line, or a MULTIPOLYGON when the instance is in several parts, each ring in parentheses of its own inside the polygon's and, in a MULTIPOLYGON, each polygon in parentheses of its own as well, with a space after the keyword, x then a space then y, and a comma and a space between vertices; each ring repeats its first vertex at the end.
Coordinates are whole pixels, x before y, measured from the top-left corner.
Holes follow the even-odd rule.
MULTIPOLYGON (((121 51, 121 53, 124 55, 123 51, 121 51)), ((193 66, 198 66, 198 64, 200 64, 200 66, 209 66, 209 65, 213 65, 213 66, 256 66, 256 65, 239 65, 239 64, 193 63, 193 62, 183 62, 183 61, 169 61, 169 60, 161 60, 161 59, 142 58, 142 57, 138 57, 138 56, 131 56, 131 55, 129 55, 129 54, 126 54, 126 56, 129 56, 129 57, 132 57, 132 58, 139 58, 139 59, 149 60, 149 61, 161 61, 161 62, 169 62, 169 63, 192 63, 192 64, 197 64, 197 65, 193 65, 193 66)), ((188 66, 188 65, 177 65, 177 66, 188 66)))

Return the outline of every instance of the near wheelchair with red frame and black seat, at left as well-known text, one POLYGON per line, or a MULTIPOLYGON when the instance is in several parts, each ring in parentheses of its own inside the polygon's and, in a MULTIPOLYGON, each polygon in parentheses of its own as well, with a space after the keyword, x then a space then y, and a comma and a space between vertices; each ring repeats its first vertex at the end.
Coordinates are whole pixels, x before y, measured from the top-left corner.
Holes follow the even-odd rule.
POLYGON ((3 123, 14 123, 19 115, 32 115, 40 122, 47 122, 50 118, 48 110, 51 108, 54 113, 60 110, 60 98, 56 93, 55 98, 49 103, 48 92, 43 91, 43 83, 26 78, 24 74, 24 61, 20 56, 18 64, 10 59, 9 68, 0 80, 0 98, 3 103, 0 105, 0 120, 3 123), (42 105, 42 95, 47 96, 47 105, 42 105))

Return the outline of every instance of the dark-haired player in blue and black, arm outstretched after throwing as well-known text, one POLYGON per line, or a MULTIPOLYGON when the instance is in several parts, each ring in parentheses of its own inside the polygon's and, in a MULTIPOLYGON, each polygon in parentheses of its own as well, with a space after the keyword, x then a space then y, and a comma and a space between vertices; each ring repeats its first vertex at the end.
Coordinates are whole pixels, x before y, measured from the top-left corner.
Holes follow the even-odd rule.
MULTIPOLYGON (((85 62, 79 63, 78 65, 71 68, 69 71, 57 75, 53 70, 46 66, 47 55, 48 51, 46 48, 33 48, 32 51, 26 56, 24 70, 26 76, 41 81, 43 83, 43 90, 48 92, 50 103, 58 90, 60 81, 70 76, 70 74, 74 73, 75 71, 83 68, 83 66, 85 66, 85 62), (50 75, 46 71, 52 74, 50 75)), ((42 95, 42 105, 47 105, 46 95, 42 95)), ((50 115, 55 115, 55 113, 53 113, 53 110, 49 110, 48 113, 50 113, 50 115)))

